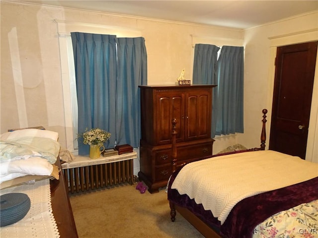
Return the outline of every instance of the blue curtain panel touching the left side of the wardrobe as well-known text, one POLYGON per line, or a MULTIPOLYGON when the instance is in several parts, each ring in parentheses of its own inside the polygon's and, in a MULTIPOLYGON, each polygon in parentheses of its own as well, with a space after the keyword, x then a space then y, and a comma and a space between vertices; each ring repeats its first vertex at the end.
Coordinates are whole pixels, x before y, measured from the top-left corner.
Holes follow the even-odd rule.
POLYGON ((116 135, 118 144, 138 148, 141 138, 140 89, 147 85, 145 39, 118 38, 116 135))

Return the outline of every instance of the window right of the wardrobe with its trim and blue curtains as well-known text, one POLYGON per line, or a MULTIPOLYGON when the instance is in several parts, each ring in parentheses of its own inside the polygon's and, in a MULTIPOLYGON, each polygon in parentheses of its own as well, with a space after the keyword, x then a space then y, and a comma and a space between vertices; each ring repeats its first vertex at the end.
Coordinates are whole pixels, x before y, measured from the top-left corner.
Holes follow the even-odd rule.
POLYGON ((193 38, 193 83, 213 89, 211 137, 243 131, 243 47, 233 39, 193 38), (216 44, 218 43, 218 44, 216 44), (217 45, 226 45, 218 47, 217 45), (228 46, 231 45, 231 46, 228 46), (234 45, 234 46, 233 46, 234 45))

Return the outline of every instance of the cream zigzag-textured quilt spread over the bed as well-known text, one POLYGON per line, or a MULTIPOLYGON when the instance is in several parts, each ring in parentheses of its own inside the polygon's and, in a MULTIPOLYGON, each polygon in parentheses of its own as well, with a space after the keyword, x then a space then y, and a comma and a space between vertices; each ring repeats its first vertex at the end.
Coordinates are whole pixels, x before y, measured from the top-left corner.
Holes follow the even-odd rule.
POLYGON ((171 188, 194 198, 223 224, 242 199, 318 177, 318 164, 276 151, 252 151, 189 163, 171 188))

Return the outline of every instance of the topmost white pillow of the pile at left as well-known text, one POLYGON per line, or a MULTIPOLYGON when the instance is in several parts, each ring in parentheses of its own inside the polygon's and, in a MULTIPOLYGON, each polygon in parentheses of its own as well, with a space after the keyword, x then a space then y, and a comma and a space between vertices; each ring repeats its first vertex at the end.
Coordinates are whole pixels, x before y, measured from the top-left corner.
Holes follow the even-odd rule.
POLYGON ((5 132, 0 135, 0 140, 3 141, 3 140, 20 138, 25 136, 45 137, 45 138, 51 138, 55 141, 58 141, 59 133, 55 131, 50 131, 50 130, 40 130, 40 129, 29 128, 29 129, 5 132))

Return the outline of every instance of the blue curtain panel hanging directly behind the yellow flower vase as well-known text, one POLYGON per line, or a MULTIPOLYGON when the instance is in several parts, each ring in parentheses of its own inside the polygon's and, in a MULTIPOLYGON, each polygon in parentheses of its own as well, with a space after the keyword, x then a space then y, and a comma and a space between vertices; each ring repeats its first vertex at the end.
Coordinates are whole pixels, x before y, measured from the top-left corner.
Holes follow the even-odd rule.
MULTIPOLYGON (((78 97, 79 133, 99 127, 111 133, 105 147, 115 144, 116 36, 72 32, 78 97)), ((89 146, 79 139, 79 154, 89 146)))

